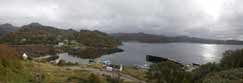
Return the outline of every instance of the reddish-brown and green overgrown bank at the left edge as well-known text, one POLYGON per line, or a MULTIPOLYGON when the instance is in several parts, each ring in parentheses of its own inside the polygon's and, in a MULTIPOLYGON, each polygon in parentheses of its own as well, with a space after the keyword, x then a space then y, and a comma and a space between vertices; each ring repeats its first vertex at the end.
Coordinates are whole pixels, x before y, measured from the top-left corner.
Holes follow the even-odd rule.
POLYGON ((6 45, 0 45, 0 82, 1 83, 24 83, 24 78, 31 77, 23 62, 17 57, 14 48, 6 45))

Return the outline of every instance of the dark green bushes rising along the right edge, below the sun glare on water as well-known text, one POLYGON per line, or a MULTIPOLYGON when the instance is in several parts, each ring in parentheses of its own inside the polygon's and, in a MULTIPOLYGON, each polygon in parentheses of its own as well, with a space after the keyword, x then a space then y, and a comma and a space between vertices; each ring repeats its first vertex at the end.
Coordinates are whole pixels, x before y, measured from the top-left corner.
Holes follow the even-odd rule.
POLYGON ((241 67, 243 67, 243 49, 238 49, 235 51, 228 50, 225 53, 223 53, 223 58, 220 60, 219 64, 208 63, 205 65, 201 65, 198 69, 194 70, 192 72, 193 73, 192 83, 204 83, 204 82, 214 83, 210 81, 212 79, 208 80, 205 78, 212 77, 212 75, 216 77, 217 76, 216 74, 219 74, 217 72, 220 71, 241 68, 241 67))

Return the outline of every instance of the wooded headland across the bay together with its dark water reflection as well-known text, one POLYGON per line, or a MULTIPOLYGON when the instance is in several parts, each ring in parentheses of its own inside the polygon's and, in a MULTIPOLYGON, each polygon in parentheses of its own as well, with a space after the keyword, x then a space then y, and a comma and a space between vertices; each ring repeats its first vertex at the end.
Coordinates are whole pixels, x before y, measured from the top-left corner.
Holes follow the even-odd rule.
POLYGON ((39 23, 24 25, 17 31, 4 35, 0 43, 11 45, 20 53, 26 52, 33 56, 46 55, 50 52, 54 54, 68 52, 82 58, 96 58, 103 54, 121 51, 117 49, 121 42, 106 33, 65 30, 39 23), (40 52, 38 49, 45 50, 40 52))

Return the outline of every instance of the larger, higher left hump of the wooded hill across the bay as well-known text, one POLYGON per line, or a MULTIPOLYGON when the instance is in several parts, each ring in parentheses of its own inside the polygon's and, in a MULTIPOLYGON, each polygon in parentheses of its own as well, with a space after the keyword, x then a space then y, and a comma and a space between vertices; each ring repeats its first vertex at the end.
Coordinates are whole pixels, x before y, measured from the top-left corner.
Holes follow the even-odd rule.
MULTIPOLYGON (((74 32, 74 31, 73 31, 74 32)), ((22 26, 19 30, 3 36, 3 42, 8 44, 57 44, 72 31, 31 23, 22 26)))

